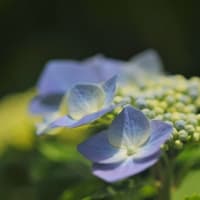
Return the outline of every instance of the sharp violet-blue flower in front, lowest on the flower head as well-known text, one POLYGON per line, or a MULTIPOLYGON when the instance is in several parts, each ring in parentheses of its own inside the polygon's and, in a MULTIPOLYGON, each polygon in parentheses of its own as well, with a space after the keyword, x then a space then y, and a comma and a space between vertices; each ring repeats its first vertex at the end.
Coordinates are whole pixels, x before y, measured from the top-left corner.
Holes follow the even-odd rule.
POLYGON ((81 143, 78 150, 93 162, 94 175, 115 182, 157 162, 160 146, 171 133, 171 125, 149 121, 141 111, 128 105, 108 130, 81 143))

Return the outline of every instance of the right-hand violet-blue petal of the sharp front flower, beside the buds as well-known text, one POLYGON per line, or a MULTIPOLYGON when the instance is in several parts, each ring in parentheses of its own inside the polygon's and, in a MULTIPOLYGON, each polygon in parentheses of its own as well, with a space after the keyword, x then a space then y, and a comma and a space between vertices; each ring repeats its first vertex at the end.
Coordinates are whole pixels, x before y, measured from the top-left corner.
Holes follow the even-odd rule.
POLYGON ((148 157, 158 150, 162 144, 164 144, 172 134, 172 126, 159 120, 152 120, 151 125, 151 136, 148 142, 138 150, 135 158, 148 157))

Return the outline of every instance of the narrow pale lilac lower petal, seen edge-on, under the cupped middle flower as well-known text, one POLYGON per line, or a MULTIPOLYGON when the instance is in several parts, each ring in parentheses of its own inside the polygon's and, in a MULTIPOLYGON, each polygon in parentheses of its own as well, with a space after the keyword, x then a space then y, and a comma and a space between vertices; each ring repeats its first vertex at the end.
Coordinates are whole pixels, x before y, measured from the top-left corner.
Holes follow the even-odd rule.
POLYGON ((117 106, 121 106, 121 104, 111 105, 108 108, 102 109, 101 111, 86 115, 83 118, 81 118, 80 120, 73 120, 68 116, 61 117, 51 124, 51 128, 55 128, 55 127, 74 128, 74 127, 82 126, 82 125, 85 125, 85 124, 88 124, 88 123, 91 123, 91 122, 97 120, 98 118, 102 117, 106 113, 114 110, 117 106))

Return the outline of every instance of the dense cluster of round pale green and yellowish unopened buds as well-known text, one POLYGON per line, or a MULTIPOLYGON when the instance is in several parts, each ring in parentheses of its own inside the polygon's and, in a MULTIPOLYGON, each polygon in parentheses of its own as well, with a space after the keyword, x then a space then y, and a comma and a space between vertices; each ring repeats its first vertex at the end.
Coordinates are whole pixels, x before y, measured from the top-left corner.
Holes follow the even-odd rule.
MULTIPOLYGON (((122 88, 131 103, 150 119, 173 125, 173 135, 164 149, 182 149, 184 144, 200 142, 200 78, 181 75, 158 76, 142 85, 122 88)), ((119 98, 119 97, 118 97, 119 98)))

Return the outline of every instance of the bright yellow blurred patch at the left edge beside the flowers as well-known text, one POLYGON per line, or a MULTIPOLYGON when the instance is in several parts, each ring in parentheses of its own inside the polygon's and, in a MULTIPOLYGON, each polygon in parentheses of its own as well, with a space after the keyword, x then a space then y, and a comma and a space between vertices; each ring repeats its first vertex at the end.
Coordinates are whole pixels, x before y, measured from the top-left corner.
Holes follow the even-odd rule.
POLYGON ((11 146, 30 149, 34 142, 34 123, 28 113, 33 91, 6 96, 0 100, 0 152, 11 146))

